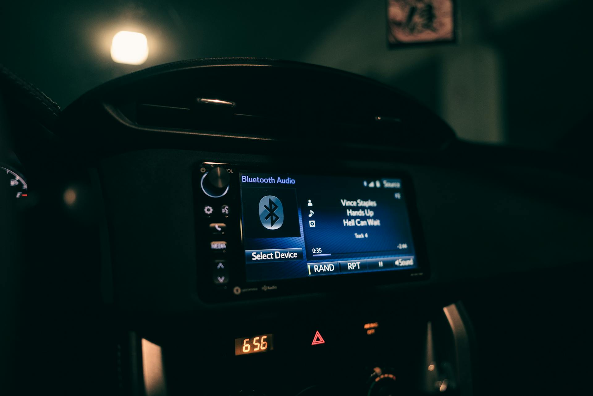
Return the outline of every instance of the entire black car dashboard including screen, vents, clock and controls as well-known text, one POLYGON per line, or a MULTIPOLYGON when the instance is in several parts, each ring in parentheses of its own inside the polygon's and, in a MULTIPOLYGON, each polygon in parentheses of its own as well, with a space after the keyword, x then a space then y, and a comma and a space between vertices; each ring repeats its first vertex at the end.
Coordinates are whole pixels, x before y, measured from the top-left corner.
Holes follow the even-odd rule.
POLYGON ((371 79, 225 58, 59 115, 7 98, 14 366, 53 356, 66 393, 533 390, 550 315, 585 305, 589 165, 462 142, 371 79))

